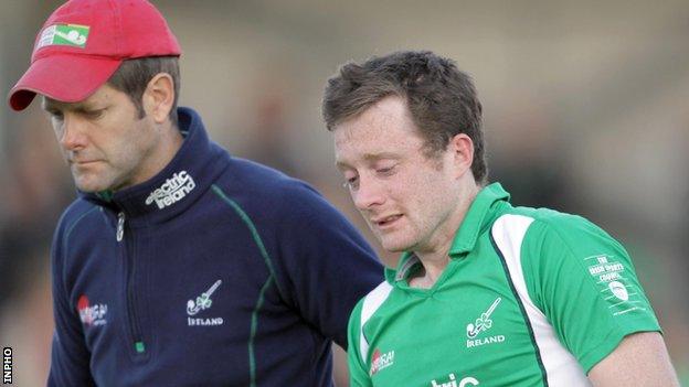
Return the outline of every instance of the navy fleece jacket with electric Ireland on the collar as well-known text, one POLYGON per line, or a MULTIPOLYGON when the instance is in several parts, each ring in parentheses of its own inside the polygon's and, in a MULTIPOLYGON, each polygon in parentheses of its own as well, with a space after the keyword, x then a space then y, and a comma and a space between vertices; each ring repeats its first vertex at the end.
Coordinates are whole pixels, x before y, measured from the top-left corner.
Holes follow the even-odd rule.
POLYGON ((330 344, 382 267, 307 184, 179 117, 160 173, 60 221, 49 386, 331 386, 330 344))

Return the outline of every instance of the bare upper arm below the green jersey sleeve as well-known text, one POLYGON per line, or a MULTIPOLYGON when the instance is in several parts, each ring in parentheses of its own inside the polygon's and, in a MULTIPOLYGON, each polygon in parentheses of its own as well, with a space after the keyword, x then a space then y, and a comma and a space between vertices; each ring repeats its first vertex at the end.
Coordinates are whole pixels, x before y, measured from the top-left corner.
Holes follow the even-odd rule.
POLYGON ((678 386, 662 336, 657 332, 626 336, 589 373, 596 387, 678 386))

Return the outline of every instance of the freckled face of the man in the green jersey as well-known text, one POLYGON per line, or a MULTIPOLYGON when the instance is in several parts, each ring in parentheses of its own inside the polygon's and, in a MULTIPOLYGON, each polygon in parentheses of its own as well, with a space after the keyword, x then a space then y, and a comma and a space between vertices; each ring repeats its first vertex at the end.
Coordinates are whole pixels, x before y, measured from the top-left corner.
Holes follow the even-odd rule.
POLYGON ((385 250, 433 250, 454 235, 453 152, 424 154, 404 99, 386 97, 333 132, 338 169, 385 250))

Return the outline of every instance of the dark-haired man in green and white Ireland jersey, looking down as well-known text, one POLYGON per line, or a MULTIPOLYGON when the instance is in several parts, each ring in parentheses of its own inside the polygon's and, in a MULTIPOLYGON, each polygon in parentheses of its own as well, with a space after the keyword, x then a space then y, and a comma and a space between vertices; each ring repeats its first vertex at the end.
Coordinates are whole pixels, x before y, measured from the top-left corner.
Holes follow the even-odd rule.
POLYGON ((349 322, 352 386, 677 386, 625 249, 487 184, 470 78, 430 52, 347 64, 324 117, 383 248, 349 322))

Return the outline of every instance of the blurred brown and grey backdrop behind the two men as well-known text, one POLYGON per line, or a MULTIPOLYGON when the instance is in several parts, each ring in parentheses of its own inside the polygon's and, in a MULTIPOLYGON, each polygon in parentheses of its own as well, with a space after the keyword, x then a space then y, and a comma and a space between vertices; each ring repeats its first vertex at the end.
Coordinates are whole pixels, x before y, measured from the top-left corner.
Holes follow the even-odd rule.
MULTIPOLYGON (((182 45, 180 105, 233 154, 314 184, 388 265, 396 257, 341 189, 321 90, 350 60, 409 49, 454 58, 484 104, 491 180, 516 204, 582 214, 622 240, 689 384, 689 2, 153 2, 182 45)), ((2 1, 2 96, 60 3, 2 1)), ((74 197, 39 104, 0 108, 0 344, 14 350, 15 384, 39 386, 52 334, 49 244, 74 197)))

